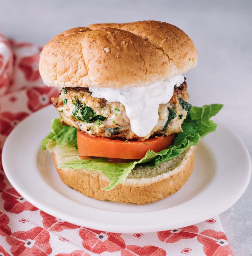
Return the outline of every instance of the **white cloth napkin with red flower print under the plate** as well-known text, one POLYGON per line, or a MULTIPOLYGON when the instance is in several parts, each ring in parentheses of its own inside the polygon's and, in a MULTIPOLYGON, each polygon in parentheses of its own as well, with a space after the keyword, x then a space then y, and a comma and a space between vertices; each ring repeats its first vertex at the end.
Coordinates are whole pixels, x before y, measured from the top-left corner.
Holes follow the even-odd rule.
MULTIPOLYGON (((10 131, 50 104, 59 91, 43 84, 41 48, 0 34, 0 154, 10 131)), ((218 216, 174 230, 116 234, 55 218, 26 201, 10 185, 0 162, 0 255, 164 256, 233 255, 218 216)))

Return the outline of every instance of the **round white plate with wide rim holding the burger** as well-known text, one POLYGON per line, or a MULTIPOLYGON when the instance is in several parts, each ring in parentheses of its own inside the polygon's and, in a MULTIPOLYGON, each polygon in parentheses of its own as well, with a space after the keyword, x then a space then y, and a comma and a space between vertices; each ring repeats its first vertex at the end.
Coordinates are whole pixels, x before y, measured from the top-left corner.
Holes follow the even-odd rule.
POLYGON ((26 200, 67 222, 118 233, 175 229, 227 210, 249 183, 251 161, 245 145, 219 124, 198 144, 189 181, 170 197, 147 205, 86 197, 60 180, 51 155, 40 150, 56 117, 48 106, 21 122, 5 142, 2 162, 10 183, 26 200))

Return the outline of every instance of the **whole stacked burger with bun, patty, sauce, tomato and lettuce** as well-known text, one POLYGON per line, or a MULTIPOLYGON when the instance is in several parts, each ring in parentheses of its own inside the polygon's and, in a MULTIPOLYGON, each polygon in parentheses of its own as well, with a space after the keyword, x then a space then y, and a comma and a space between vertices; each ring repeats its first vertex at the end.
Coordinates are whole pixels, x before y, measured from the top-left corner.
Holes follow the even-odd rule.
POLYGON ((61 87, 60 117, 42 142, 61 180, 100 200, 145 204, 178 191, 219 104, 192 107, 182 76, 197 65, 192 40, 166 22, 67 30, 40 54, 44 83, 61 87))

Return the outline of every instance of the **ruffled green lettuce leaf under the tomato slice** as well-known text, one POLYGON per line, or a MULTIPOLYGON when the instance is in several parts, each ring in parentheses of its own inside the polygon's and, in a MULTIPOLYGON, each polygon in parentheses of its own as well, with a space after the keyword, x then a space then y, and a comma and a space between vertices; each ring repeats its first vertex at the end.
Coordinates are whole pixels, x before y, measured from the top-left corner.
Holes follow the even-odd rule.
POLYGON ((170 161, 183 153, 190 146, 196 145, 206 134, 216 130, 216 123, 210 118, 216 115, 223 105, 212 104, 203 107, 193 106, 182 124, 182 131, 177 134, 173 145, 160 152, 148 150, 144 158, 130 163, 111 163, 106 158, 82 159, 77 149, 76 129, 63 126, 60 118, 51 123, 51 131, 42 142, 42 149, 48 149, 59 156, 58 168, 97 170, 109 179, 105 190, 113 189, 123 183, 128 174, 138 164, 155 167, 160 163, 170 161))

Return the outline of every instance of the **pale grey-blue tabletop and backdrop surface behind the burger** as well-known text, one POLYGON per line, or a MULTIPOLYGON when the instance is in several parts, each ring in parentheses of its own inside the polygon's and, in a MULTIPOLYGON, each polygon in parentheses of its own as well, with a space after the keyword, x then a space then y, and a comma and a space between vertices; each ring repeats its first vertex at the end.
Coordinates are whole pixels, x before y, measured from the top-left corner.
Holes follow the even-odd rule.
MULTIPOLYGON (((61 31, 90 23, 154 19, 178 26, 198 50, 198 66, 186 74, 190 102, 223 103, 215 120, 235 131, 251 156, 251 1, 0 0, 0 6, 0 30, 40 45, 61 31)), ((250 181, 240 200, 220 214, 235 255, 252 254, 251 194, 250 181)))

